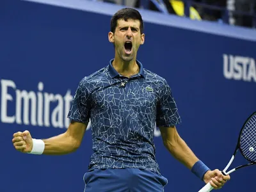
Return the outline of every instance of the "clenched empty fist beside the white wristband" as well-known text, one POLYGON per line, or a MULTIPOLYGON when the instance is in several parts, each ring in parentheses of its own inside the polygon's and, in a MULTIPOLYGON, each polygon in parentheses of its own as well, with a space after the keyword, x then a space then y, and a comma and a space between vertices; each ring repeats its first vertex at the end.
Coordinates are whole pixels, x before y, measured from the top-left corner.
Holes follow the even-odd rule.
POLYGON ((29 131, 15 132, 12 143, 16 150, 23 153, 31 152, 33 147, 33 141, 29 131))

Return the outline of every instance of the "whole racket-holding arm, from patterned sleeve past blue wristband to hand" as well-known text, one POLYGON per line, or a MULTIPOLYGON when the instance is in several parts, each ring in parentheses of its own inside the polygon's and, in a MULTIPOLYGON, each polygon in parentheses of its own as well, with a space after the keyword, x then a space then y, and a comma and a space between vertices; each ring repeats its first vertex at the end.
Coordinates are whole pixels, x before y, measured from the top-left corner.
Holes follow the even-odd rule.
POLYGON ((175 127, 175 125, 180 123, 180 116, 171 88, 165 79, 159 84, 157 95, 159 100, 157 104, 156 125, 161 131, 164 146, 175 159, 178 159, 191 172, 195 173, 197 177, 200 177, 205 183, 211 182, 213 188, 220 189, 230 177, 229 175, 222 175, 220 170, 209 170, 195 156, 185 141, 180 138, 175 127))

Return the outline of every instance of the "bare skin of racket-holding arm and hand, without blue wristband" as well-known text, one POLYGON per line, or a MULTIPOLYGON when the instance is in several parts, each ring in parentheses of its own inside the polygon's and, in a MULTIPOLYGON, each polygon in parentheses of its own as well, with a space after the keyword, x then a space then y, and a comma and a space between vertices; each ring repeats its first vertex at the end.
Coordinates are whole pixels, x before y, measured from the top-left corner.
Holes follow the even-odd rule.
MULTIPOLYGON (((159 127, 159 129, 163 138, 164 147, 168 149, 175 159, 191 170, 196 162, 200 160, 195 156, 186 142, 180 138, 176 127, 159 127)), ((220 189, 227 180, 230 180, 230 176, 224 176, 220 170, 216 169, 205 172, 202 179, 205 183, 211 182, 211 186, 214 189, 220 189)))

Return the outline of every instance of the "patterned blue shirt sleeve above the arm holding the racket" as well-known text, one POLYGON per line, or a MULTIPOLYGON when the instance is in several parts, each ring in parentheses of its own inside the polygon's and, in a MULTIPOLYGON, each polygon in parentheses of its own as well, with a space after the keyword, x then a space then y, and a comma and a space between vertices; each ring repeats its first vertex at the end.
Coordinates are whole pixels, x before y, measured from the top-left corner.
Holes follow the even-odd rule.
POLYGON ((157 105, 156 125, 157 127, 170 127, 180 124, 176 102, 172 96, 170 86, 164 81, 159 90, 159 102, 157 105))

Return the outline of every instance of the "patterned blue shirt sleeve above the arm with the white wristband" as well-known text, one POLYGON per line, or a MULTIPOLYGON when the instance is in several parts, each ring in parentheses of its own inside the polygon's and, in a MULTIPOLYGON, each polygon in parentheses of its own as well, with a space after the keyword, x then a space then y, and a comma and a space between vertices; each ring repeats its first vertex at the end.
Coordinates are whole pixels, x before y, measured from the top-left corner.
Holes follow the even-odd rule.
POLYGON ((82 122, 84 124, 88 123, 90 120, 90 109, 91 94, 86 88, 84 81, 81 81, 77 87, 76 95, 72 100, 72 105, 68 112, 68 118, 76 122, 82 122))

